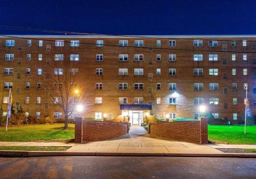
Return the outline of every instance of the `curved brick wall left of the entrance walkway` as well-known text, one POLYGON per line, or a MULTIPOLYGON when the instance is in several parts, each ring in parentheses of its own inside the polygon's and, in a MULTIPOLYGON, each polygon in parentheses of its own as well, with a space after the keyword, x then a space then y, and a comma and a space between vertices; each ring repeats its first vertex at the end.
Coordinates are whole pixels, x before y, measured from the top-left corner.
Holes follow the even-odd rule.
POLYGON ((129 132, 128 122, 84 121, 75 119, 75 142, 91 142, 116 138, 129 132))

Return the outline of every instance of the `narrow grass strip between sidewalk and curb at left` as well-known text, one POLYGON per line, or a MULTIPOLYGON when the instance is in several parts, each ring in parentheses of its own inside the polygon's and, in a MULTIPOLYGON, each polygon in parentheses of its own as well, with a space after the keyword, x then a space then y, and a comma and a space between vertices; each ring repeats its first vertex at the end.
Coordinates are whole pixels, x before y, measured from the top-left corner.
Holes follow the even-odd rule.
POLYGON ((0 150, 21 151, 66 151, 70 147, 37 147, 37 146, 0 146, 0 150))

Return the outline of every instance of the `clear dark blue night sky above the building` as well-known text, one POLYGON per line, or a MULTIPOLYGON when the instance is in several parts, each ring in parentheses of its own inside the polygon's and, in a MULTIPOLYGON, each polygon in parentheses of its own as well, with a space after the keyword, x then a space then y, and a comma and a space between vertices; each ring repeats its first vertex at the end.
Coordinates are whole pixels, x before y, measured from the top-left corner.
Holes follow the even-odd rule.
MULTIPOLYGON (((0 25, 128 35, 256 34, 256 1, 1 1, 0 25)), ((0 29, 0 34, 42 34, 0 29)))

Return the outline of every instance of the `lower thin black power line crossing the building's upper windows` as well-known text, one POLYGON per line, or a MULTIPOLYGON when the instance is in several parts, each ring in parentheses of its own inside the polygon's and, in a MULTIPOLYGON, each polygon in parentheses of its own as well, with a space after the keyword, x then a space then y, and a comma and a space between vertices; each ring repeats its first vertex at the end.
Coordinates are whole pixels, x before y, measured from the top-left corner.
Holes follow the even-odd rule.
MULTIPOLYGON (((29 39, 29 40, 44 40, 44 41, 58 41, 58 40, 50 40, 50 39, 41 39, 41 38, 28 38, 28 37, 18 37, 18 36, 10 36, 10 35, 0 35, 2 37, 10 37, 10 38, 21 38, 21 39, 29 39)), ((65 38, 65 37, 64 37, 65 38)), ((70 41, 65 41, 66 43, 71 43, 70 41)), ((88 42, 79 42, 79 44, 87 44, 97 46, 97 43, 88 43, 88 42)), ((168 50, 168 51, 195 51, 195 52, 220 52, 220 53, 255 53, 255 52, 242 52, 242 51, 221 51, 221 50, 195 50, 195 49, 173 49, 173 48, 155 48, 155 47, 136 47, 136 46, 119 46, 114 44, 103 44, 102 46, 110 46, 110 47, 121 47, 121 48, 140 48, 140 49, 148 49, 148 50, 168 50)))

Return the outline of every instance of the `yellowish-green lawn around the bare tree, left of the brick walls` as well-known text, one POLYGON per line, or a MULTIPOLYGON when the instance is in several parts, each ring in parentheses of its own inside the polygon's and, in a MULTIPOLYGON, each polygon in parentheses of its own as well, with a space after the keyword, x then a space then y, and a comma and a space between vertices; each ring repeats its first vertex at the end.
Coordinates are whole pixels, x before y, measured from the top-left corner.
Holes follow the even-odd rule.
MULTIPOLYGON (((0 127, 0 141, 5 142, 28 142, 28 141, 61 141, 66 142, 74 139, 75 129, 63 130, 64 124, 39 124, 18 127, 0 127)), ((75 127, 69 124, 69 127, 75 127)))

